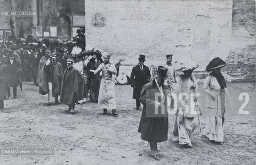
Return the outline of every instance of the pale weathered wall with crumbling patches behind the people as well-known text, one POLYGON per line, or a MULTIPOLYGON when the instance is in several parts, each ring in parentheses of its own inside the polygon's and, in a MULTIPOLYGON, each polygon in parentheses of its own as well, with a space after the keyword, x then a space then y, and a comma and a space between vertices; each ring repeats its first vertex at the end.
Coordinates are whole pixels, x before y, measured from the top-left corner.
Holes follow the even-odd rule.
POLYGON ((231 62, 224 70, 228 80, 254 80, 255 2, 248 7, 241 1, 85 0, 86 44, 125 58, 127 65, 136 64, 139 54, 146 55, 149 66, 173 54, 174 61, 191 58, 204 71, 210 60, 220 57, 231 62), (250 17, 242 25, 250 35, 237 36, 233 22, 244 17, 244 8, 250 17), (230 70, 237 61, 243 71, 235 75, 230 70), (247 69, 251 73, 243 75, 247 69))

